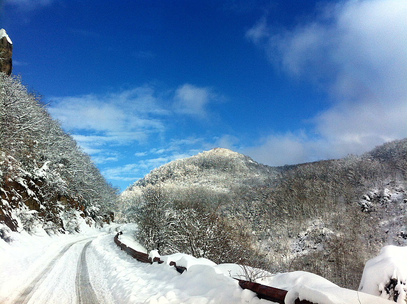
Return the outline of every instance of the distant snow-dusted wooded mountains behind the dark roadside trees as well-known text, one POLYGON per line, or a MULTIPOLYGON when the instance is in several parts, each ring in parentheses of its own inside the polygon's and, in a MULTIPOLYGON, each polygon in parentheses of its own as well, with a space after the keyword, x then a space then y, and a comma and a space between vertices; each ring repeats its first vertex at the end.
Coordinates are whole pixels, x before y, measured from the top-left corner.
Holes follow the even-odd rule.
POLYGON ((407 245, 406 160, 406 139, 360 157, 284 167, 215 148, 151 171, 122 193, 122 212, 132 218, 143 189, 154 186, 167 208, 194 201, 233 219, 233 233, 246 229, 274 268, 355 289, 384 245, 407 245))

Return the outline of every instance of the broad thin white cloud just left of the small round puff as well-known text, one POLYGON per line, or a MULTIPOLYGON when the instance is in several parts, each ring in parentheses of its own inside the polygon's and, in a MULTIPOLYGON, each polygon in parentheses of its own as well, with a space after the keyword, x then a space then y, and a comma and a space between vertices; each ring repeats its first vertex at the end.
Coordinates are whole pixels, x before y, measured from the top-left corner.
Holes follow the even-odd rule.
POLYGON ((139 87, 106 97, 56 97, 48 110, 81 144, 144 141, 149 134, 165 130, 157 115, 167 112, 153 94, 152 89, 139 87), (83 131, 86 135, 80 135, 83 131))

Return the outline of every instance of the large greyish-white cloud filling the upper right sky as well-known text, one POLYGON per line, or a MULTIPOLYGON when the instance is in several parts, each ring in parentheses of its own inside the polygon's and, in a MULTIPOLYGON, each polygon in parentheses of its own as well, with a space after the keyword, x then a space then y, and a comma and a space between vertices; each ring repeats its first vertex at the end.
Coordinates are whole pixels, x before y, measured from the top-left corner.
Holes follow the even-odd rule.
POLYGON ((405 0, 352 0, 327 6, 319 19, 283 33, 254 25, 247 37, 265 47, 270 61, 288 75, 326 89, 331 107, 310 119, 308 137, 271 135, 251 152, 281 149, 282 164, 361 154, 406 137, 405 16, 405 0))

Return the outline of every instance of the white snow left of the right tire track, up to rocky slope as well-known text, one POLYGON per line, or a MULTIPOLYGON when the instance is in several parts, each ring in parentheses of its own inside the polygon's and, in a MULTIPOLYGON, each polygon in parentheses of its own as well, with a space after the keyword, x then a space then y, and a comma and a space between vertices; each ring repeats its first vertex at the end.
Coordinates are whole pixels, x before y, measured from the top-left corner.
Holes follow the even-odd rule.
POLYGON ((37 227, 34 235, 11 233, 9 244, 0 239, 0 303, 74 303, 85 245, 100 236, 111 237, 114 227, 82 225, 80 234, 58 236, 37 227))

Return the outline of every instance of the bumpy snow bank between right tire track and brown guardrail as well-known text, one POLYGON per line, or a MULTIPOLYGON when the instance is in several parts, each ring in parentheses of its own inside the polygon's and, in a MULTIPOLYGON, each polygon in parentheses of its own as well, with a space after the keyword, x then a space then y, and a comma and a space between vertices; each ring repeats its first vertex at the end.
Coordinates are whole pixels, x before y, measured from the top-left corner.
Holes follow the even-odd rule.
POLYGON ((90 260, 100 263, 95 268, 120 303, 271 303, 241 289, 238 281, 206 265, 209 261, 206 259, 191 259, 184 254, 162 256, 168 262, 174 259, 177 265, 189 266, 180 275, 166 262, 151 265, 134 260, 114 244, 110 235, 99 236, 91 248, 94 250, 90 251, 90 260))

